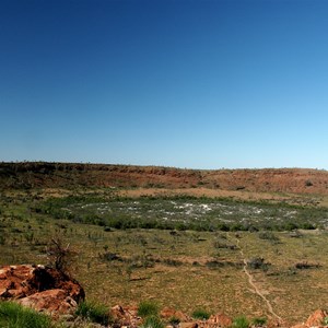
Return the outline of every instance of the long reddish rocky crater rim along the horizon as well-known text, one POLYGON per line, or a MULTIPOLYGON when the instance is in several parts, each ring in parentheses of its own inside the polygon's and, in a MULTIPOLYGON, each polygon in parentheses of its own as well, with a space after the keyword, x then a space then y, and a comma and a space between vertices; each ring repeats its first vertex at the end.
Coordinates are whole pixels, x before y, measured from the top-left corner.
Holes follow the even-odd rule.
POLYGON ((328 194, 328 172, 307 168, 181 169, 77 163, 0 163, 2 188, 210 188, 255 192, 328 194))

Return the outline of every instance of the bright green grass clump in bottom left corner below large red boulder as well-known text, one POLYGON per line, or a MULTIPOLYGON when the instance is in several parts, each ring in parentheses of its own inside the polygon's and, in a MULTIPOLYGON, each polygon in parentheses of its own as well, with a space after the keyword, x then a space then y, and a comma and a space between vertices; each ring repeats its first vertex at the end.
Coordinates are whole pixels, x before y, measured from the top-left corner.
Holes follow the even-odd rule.
POLYGON ((0 327, 50 328, 50 317, 14 302, 0 302, 0 327))

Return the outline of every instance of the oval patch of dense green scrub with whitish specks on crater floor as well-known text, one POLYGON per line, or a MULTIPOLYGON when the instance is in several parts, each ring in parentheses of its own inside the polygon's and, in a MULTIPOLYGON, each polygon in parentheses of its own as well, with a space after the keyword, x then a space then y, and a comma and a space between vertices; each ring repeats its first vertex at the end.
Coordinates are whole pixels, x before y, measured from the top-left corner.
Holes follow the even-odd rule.
MULTIPOLYGON (((70 196, 38 201, 31 210, 54 219, 99 225, 107 231, 266 231, 268 235, 267 231, 314 230, 328 224, 326 208, 184 195, 164 198, 151 196, 138 200, 117 196, 70 196)), ((265 234, 262 236, 266 238, 265 234)))

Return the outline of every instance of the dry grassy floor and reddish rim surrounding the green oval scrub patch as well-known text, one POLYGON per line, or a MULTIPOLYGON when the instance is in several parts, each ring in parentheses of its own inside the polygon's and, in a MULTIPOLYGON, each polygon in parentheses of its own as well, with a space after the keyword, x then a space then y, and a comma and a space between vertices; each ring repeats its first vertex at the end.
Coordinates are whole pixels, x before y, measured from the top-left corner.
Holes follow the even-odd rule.
MULTIPOLYGON (((136 198, 188 194, 313 207, 328 204, 328 175, 311 169, 204 172, 2 163, 0 183, 0 265, 46 263, 45 247, 51 236, 60 235, 79 253, 72 272, 84 285, 89 300, 115 305, 153 298, 162 306, 174 306, 189 314, 203 307, 231 316, 267 315, 262 300, 250 289, 242 271, 239 251, 215 247, 218 238, 221 242, 223 238, 223 244, 236 244, 235 233, 104 232, 101 226, 55 220, 31 208, 48 197, 113 192, 104 187, 116 187, 118 195, 136 198), (106 260, 106 253, 114 253, 121 260, 106 260)), ((274 234, 280 243, 261 239, 258 233, 242 232, 239 245, 247 259, 260 256, 271 263, 268 272, 253 273, 276 312, 290 323, 302 321, 314 309, 326 306, 328 235, 326 231, 304 232, 300 238, 284 232, 274 234), (320 267, 296 270, 295 263, 302 261, 320 267)))

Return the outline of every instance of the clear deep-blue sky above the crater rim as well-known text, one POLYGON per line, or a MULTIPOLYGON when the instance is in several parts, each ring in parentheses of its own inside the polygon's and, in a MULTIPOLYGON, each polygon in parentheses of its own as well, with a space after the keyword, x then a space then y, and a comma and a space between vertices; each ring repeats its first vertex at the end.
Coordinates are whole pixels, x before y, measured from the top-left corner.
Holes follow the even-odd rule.
POLYGON ((0 0, 0 161, 328 169, 328 1, 0 0))

